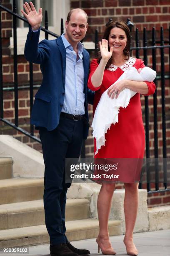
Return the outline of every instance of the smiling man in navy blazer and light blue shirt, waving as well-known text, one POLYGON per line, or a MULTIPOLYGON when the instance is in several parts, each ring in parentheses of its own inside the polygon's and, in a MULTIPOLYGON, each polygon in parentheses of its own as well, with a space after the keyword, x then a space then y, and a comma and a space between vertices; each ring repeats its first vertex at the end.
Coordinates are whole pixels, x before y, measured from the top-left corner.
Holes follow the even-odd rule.
MULTIPOLYGON (((87 14, 77 8, 68 13, 66 33, 38 44, 42 8, 36 12, 30 2, 24 5, 30 29, 25 44, 28 61, 40 64, 42 84, 35 95, 31 123, 40 130, 45 162, 45 224, 53 256, 88 255, 74 248, 65 236, 65 158, 79 158, 83 138, 88 134, 87 78, 89 54, 80 41, 87 31, 87 14)), ((89 103, 93 102, 88 92, 89 103)))

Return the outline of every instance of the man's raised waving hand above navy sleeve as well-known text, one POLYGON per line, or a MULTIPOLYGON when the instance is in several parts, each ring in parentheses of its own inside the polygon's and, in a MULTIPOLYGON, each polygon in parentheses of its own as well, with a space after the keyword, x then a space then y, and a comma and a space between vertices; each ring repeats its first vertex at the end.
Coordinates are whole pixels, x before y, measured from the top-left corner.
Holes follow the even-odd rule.
POLYGON ((30 23, 32 30, 37 30, 42 21, 42 8, 40 8, 39 13, 37 13, 32 2, 30 2, 30 5, 25 2, 23 6, 26 13, 23 10, 21 10, 21 13, 23 13, 24 17, 30 23))

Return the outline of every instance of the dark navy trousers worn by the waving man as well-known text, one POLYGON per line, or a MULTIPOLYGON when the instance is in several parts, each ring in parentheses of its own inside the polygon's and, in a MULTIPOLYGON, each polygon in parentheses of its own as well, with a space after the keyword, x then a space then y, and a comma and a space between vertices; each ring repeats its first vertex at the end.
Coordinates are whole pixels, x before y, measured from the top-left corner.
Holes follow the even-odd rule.
POLYGON ((53 131, 40 127, 40 139, 45 163, 44 209, 45 225, 50 244, 65 243, 66 193, 71 184, 65 183, 65 158, 79 158, 84 124, 60 117, 53 131))

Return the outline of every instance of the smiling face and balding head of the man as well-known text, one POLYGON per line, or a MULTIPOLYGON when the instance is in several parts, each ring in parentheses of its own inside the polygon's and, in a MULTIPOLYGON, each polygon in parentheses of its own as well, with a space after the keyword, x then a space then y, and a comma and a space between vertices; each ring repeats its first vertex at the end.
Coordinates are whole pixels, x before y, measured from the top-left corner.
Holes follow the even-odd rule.
POLYGON ((70 44, 80 42, 87 31, 87 19, 84 13, 74 11, 71 14, 69 22, 65 23, 66 33, 65 37, 70 44))

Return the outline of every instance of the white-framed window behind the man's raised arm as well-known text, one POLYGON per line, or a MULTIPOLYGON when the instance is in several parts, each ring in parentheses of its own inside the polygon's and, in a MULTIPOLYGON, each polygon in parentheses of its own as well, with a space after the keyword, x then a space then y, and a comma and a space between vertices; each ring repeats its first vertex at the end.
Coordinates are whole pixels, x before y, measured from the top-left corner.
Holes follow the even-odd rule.
MULTIPOLYGON (((13 4, 13 0, 10 0, 13 4)), ((20 12, 23 9, 23 3, 30 2, 30 0, 17 0, 17 13, 22 15, 20 12)), ((60 35, 60 23, 61 18, 65 23, 67 13, 70 11, 70 0, 32 0, 35 9, 38 11, 42 8, 42 26, 44 26, 45 10, 48 13, 48 29, 58 35, 60 35)), ((24 53, 25 40, 28 33, 28 24, 23 20, 17 19, 17 50, 18 55, 24 53)), ((40 41, 45 38, 45 33, 41 31, 40 41)), ((49 36, 49 39, 54 39, 49 36)), ((13 38, 10 38, 11 54, 13 54, 13 38)))

